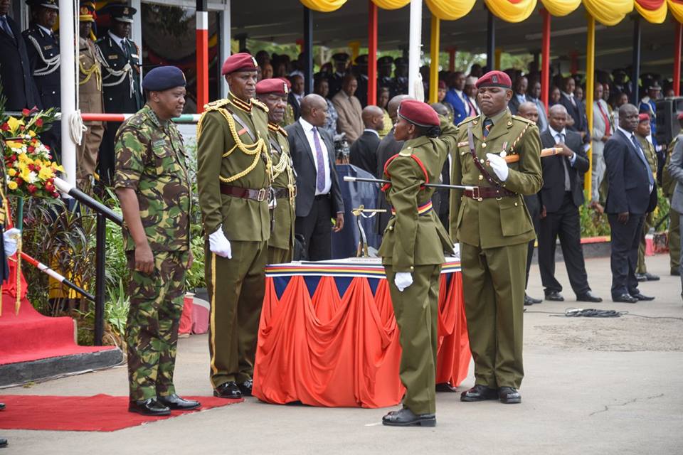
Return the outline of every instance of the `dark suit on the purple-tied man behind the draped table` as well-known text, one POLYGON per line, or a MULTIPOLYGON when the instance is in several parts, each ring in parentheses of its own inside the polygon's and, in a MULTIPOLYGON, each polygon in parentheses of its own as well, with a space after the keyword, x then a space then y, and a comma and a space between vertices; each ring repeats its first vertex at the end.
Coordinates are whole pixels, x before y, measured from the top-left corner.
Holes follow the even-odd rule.
POLYGON ((305 239, 305 252, 308 259, 321 261, 332 259, 332 223, 337 213, 344 212, 342 192, 339 190, 337 166, 334 163, 334 141, 329 133, 318 128, 320 140, 327 148, 329 164, 329 193, 316 196, 317 169, 311 149, 301 122, 287 128, 287 141, 297 173, 297 200, 295 232, 305 239))

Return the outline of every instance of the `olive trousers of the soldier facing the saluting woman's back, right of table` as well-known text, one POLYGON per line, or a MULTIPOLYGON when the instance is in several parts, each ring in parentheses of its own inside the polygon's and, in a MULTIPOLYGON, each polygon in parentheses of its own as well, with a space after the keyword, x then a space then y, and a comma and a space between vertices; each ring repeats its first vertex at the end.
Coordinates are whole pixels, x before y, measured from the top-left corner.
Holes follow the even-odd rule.
POLYGON ((526 242, 485 249, 461 243, 460 263, 475 383, 519 388, 526 242))

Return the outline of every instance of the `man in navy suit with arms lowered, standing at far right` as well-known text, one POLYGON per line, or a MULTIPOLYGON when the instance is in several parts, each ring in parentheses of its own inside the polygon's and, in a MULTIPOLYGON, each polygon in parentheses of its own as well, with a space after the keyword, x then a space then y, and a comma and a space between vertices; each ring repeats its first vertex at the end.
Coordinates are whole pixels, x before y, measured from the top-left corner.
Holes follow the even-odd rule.
POLYGON ((612 228, 612 300, 635 304, 652 300, 638 290, 635 267, 645 213, 657 203, 655 179, 633 132, 638 109, 619 108, 619 127, 605 143, 608 192, 605 212, 612 228))

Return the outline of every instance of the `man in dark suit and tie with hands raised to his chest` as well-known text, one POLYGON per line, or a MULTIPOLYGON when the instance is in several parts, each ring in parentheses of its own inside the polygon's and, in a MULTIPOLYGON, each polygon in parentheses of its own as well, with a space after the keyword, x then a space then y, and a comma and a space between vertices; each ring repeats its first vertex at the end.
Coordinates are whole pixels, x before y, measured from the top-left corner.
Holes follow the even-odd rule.
POLYGON ((577 301, 600 302, 588 286, 586 264, 581 249, 581 221, 578 208, 583 204, 582 176, 588 172, 588 158, 581 136, 565 128, 567 110, 554 105, 549 111, 549 126, 541 133, 544 148, 562 149, 556 156, 541 160, 543 188, 539 225, 539 268, 546 300, 563 301, 561 284, 555 278, 555 245, 560 237, 564 264, 577 301))

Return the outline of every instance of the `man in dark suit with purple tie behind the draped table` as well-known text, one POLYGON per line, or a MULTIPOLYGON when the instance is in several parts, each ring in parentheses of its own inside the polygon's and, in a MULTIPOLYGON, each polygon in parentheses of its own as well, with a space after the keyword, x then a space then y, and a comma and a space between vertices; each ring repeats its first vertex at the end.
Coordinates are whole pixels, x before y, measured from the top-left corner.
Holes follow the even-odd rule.
POLYGON ((306 257, 332 259, 332 231, 344 228, 344 202, 339 190, 334 142, 322 129, 327 122, 327 102, 320 95, 301 100, 300 119, 287 127, 287 140, 297 172, 295 232, 305 240, 306 257), (332 228, 330 218, 336 217, 332 228))

